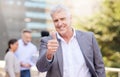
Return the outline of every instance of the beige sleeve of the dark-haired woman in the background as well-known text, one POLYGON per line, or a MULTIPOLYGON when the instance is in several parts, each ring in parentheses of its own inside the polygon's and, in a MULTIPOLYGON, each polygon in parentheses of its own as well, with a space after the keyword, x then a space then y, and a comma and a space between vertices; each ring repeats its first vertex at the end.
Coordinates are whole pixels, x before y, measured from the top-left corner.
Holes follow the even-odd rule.
POLYGON ((10 77, 15 77, 15 71, 14 71, 14 55, 9 54, 7 57, 7 72, 10 77))

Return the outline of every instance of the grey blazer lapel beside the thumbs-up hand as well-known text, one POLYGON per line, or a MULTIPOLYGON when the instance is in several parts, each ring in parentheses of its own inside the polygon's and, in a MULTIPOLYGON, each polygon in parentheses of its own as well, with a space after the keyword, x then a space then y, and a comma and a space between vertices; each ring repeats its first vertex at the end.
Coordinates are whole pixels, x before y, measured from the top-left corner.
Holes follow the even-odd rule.
POLYGON ((57 50, 57 61, 58 61, 58 65, 59 65, 59 69, 60 69, 60 77, 63 77, 63 54, 62 54, 62 47, 61 47, 61 43, 60 40, 58 40, 59 42, 59 47, 57 50))

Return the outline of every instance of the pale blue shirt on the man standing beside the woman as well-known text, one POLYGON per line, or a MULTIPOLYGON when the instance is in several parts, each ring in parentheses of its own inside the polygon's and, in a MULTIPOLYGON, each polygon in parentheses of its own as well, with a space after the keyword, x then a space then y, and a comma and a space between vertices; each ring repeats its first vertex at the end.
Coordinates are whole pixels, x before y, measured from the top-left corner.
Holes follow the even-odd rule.
MULTIPOLYGON (((19 47, 16 51, 16 56, 22 63, 29 63, 30 65, 34 65, 33 62, 33 55, 37 53, 37 48, 34 44, 31 42, 28 43, 27 45, 24 44, 23 40, 20 39, 18 41, 19 47)), ((21 70, 27 70, 30 68, 23 68, 21 67, 21 70)))

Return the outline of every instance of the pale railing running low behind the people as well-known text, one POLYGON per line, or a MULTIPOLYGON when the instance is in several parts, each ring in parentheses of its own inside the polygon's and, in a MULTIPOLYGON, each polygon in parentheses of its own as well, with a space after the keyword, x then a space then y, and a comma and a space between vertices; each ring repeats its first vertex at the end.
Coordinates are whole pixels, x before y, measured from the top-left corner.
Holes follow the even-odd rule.
MULTIPOLYGON (((4 61, 0 61, 0 77, 2 77, 2 76, 4 77, 4 75, 5 75, 4 66, 5 66, 5 62, 4 61), (2 74, 2 76, 1 76, 1 74, 2 74)), ((32 70, 33 77, 45 77, 46 73, 39 73, 35 66, 32 67, 31 70, 32 70)), ((118 77, 120 77, 120 68, 106 67, 105 70, 106 70, 106 73, 107 72, 117 72, 118 73, 118 77)))

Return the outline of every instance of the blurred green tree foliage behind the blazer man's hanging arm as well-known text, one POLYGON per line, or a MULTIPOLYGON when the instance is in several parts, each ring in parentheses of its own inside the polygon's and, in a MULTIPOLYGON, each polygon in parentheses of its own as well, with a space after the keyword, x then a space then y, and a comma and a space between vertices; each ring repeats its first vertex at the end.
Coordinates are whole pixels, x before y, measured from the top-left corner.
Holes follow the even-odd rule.
MULTIPOLYGON (((105 66, 120 68, 120 0, 104 0, 100 12, 85 25, 85 30, 95 33, 105 66)), ((108 77, 116 74, 109 73, 108 77)))

